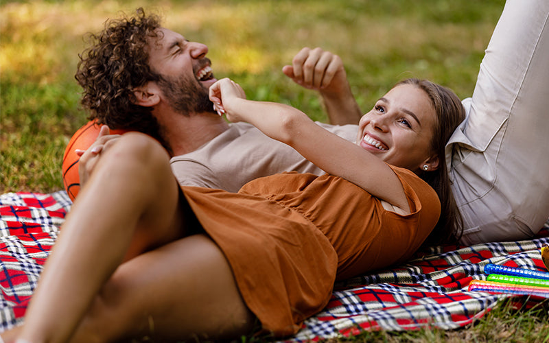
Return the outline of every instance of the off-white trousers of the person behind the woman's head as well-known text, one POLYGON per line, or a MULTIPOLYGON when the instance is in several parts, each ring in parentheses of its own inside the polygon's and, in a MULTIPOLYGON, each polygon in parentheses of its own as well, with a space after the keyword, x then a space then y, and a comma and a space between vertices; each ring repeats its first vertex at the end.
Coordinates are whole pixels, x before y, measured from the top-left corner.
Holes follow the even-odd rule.
POLYGON ((506 2, 467 119, 447 145, 464 244, 517 240, 549 217, 549 1, 506 2))

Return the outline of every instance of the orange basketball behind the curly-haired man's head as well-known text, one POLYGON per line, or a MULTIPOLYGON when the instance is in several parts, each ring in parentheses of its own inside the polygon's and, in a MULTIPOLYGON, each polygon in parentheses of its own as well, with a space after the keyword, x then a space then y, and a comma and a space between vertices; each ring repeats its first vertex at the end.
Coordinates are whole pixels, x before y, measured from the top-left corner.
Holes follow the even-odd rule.
MULTIPOLYGON (((88 121, 82 128, 73 134, 71 141, 65 148, 65 154, 63 155, 63 185, 65 191, 69 194, 69 198, 74 201, 78 191, 80 191, 80 180, 78 176, 78 156, 74 150, 86 150, 97 139, 101 125, 95 123, 95 121, 88 121)), ((128 130, 110 130, 111 134, 123 134, 128 130)))

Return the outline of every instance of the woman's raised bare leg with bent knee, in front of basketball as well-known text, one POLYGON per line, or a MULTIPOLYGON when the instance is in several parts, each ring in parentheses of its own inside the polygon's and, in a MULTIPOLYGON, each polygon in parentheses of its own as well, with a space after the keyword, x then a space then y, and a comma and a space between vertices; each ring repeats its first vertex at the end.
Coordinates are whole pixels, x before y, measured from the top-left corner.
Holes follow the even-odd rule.
POLYGON ((183 235, 178 194, 169 156, 150 137, 126 134, 102 152, 62 226, 19 338, 67 341, 124 259, 183 235))

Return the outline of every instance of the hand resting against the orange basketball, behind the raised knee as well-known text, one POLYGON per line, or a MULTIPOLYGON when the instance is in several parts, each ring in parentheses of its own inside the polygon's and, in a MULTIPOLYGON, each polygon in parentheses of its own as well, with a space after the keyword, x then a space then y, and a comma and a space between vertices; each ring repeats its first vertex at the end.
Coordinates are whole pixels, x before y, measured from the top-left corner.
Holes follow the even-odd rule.
POLYGON ((80 178, 80 188, 84 187, 84 183, 89 179, 93 168, 99 161, 100 153, 112 146, 120 134, 110 134, 108 126, 104 125, 100 128, 97 139, 87 150, 75 150, 75 153, 80 156, 78 161, 78 177, 80 178))

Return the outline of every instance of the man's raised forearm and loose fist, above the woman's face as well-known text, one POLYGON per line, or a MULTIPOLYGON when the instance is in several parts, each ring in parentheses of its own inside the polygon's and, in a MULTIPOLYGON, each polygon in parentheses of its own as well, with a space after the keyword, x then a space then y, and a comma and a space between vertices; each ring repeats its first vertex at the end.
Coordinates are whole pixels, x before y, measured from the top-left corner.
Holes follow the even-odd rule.
POLYGON ((329 123, 356 124, 362 117, 339 56, 304 47, 282 71, 297 84, 320 92, 329 123))

